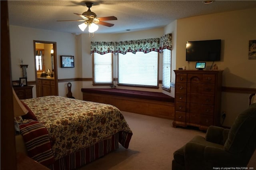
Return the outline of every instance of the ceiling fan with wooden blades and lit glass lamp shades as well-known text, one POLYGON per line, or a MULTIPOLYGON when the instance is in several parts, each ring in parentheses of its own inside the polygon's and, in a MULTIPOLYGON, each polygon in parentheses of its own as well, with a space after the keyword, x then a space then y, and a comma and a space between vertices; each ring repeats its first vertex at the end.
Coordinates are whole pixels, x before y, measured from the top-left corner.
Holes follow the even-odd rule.
POLYGON ((93 3, 92 2, 86 2, 85 3, 88 10, 82 14, 77 14, 74 13, 78 16, 80 16, 82 18, 82 20, 58 20, 58 21, 79 21, 79 22, 84 22, 80 25, 78 25, 78 27, 84 31, 85 28, 88 26, 89 28, 89 32, 94 32, 96 30, 98 30, 98 25, 96 24, 100 24, 103 26, 107 26, 107 27, 112 27, 114 26, 114 24, 108 23, 108 22, 104 22, 104 21, 109 21, 109 20, 117 20, 117 18, 115 16, 106 16, 106 17, 97 17, 97 15, 92 12, 90 10, 90 8, 92 7, 93 3))

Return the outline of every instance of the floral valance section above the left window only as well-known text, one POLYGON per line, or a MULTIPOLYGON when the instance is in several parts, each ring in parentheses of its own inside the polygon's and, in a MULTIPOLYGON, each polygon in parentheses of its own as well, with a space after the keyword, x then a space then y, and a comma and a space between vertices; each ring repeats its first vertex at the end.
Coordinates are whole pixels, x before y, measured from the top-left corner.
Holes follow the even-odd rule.
POLYGON ((115 42, 91 42, 92 53, 115 53, 115 42))

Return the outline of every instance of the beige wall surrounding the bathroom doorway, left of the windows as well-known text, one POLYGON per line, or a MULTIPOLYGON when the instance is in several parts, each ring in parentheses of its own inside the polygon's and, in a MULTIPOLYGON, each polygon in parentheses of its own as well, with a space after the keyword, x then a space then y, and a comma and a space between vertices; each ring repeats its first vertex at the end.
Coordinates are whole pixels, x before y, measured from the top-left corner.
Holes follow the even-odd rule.
MULTIPOLYGON (((56 42, 57 43, 57 65, 58 78, 74 78, 78 76, 78 68, 60 68, 60 55, 76 56, 76 36, 70 33, 54 32, 50 30, 40 30, 10 25, 10 50, 11 50, 11 69, 12 80, 18 80, 22 77, 20 68, 20 58, 24 64, 28 64, 28 81, 35 81, 35 63, 34 63, 34 44, 33 40, 56 42)), ((75 57, 75 63, 77 58, 75 57)), ((60 96, 66 96, 66 91, 59 89, 60 96)), ((33 97, 36 97, 36 87, 33 88, 33 97)))

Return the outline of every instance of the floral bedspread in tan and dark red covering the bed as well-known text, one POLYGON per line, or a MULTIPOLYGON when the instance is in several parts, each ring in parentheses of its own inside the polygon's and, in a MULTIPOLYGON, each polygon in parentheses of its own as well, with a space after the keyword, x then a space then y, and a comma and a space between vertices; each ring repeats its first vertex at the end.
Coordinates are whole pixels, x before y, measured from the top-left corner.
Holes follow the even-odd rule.
POLYGON ((48 130, 57 160, 117 132, 132 134, 119 109, 60 96, 22 100, 48 130))

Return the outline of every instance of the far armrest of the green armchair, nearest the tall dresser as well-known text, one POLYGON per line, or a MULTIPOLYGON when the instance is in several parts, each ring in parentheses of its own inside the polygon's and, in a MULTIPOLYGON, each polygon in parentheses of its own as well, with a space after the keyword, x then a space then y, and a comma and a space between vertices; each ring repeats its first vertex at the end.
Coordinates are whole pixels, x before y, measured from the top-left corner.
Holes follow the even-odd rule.
POLYGON ((224 144, 223 131, 224 131, 224 128, 222 127, 210 126, 207 129, 205 140, 208 142, 213 142, 217 144, 224 144))

